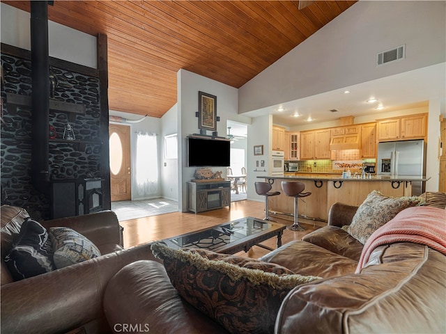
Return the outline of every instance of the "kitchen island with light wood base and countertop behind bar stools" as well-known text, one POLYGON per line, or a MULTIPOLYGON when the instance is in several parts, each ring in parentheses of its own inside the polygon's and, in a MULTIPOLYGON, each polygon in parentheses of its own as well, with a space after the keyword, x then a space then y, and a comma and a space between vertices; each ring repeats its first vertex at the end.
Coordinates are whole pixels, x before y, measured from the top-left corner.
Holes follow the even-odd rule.
POLYGON ((299 200, 298 212, 302 218, 326 222, 328 211, 335 202, 359 206, 371 191, 378 190, 385 196, 412 196, 411 182, 426 182, 430 177, 415 177, 405 175, 377 175, 369 178, 348 178, 341 175, 285 175, 257 177, 261 181, 272 185, 271 191, 280 191, 279 196, 269 199, 270 212, 275 212, 280 218, 293 220, 293 198, 288 197, 282 190, 282 181, 302 182, 305 192, 311 196, 299 200), (305 200, 305 202, 304 202, 305 200))

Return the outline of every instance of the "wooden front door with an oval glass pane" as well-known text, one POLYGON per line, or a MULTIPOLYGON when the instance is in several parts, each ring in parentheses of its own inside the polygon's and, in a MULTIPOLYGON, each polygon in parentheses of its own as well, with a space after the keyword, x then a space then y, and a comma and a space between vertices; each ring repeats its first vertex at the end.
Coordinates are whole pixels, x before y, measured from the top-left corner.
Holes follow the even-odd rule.
POLYGON ((130 127, 109 125, 110 191, 112 202, 131 200, 130 127))

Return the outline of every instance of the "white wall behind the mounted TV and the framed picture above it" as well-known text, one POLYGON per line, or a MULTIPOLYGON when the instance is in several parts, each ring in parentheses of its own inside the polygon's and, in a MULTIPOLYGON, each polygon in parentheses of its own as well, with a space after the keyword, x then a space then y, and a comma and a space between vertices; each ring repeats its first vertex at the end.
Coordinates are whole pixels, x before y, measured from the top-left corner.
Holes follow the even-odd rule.
MULTIPOLYGON (((226 136, 226 121, 233 120, 249 124, 251 118, 238 115, 238 90, 218 81, 202 77, 201 75, 179 70, 177 74, 178 83, 178 145, 180 155, 178 156, 178 169, 180 177, 178 184, 182 191, 178 194, 178 209, 185 212, 187 210, 187 186, 186 182, 194 179, 197 168, 187 167, 187 142, 186 137, 191 134, 198 134, 198 118, 195 113, 198 111, 198 92, 202 91, 217 97, 217 133, 219 136, 226 136)), ((208 134, 211 134, 210 132, 208 134)), ((249 136, 249 127, 248 127, 249 136)), ((249 149, 249 145, 248 145, 249 149)), ((248 168, 248 167, 247 167, 248 168)), ((226 174, 226 168, 213 168, 214 172, 222 170, 226 174)))

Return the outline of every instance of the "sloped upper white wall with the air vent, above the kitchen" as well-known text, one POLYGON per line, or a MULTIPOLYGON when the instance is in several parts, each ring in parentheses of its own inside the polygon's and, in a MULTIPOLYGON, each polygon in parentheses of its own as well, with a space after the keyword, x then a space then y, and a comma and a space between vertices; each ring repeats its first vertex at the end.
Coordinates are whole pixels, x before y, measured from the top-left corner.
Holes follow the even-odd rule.
POLYGON ((239 90, 239 112, 415 70, 446 57, 446 1, 358 1, 239 90), (376 54, 406 44, 406 60, 376 54))

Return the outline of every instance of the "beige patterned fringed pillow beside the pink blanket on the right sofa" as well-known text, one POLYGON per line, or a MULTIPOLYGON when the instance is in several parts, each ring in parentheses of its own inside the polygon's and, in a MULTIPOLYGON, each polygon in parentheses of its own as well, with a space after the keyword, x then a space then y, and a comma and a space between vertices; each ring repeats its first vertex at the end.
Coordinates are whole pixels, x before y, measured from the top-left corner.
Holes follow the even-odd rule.
POLYGON ((424 200, 420 197, 392 198, 374 190, 357 208, 351 224, 343 226, 343 229, 361 244, 365 244, 373 232, 397 216, 398 212, 423 204, 424 200))

